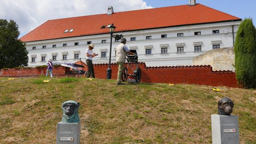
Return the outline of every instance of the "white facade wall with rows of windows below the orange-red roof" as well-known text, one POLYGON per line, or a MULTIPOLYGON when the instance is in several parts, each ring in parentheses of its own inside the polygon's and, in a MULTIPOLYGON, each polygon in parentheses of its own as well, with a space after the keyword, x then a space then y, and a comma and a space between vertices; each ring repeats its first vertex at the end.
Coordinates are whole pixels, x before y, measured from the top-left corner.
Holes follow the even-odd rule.
MULTIPOLYGON (((145 62, 147 66, 192 65, 193 57, 211 50, 212 43, 215 44, 217 42, 220 47, 232 47, 232 26, 234 26, 234 36, 236 36, 240 22, 137 30, 114 33, 114 35, 122 34, 127 39, 126 45, 130 49, 137 50, 138 61, 145 62), (219 34, 212 34, 212 30, 219 30, 219 34), (194 36, 194 32, 197 31, 200 31, 201 35, 194 36), (177 33, 183 33, 183 36, 177 37, 177 33), (161 38, 161 35, 167 35, 167 37, 161 38), (146 39, 146 36, 152 36, 152 39, 146 39), (136 41, 130 41, 131 37, 136 37, 136 41), (201 45, 201 52, 195 52, 194 45, 196 44, 201 45), (183 45, 184 52, 177 53, 176 45, 183 45), (161 47, 166 46, 167 54, 161 54, 161 47), (146 54, 146 48, 151 48, 151 54, 146 54)), ((99 54, 93 58, 93 63, 109 63, 110 34, 101 34, 27 42, 28 65, 45 65, 46 62, 41 62, 41 56, 46 56, 47 61, 48 59, 52 59, 53 55, 57 56, 57 60, 53 62, 77 62, 79 59, 74 59, 74 54, 79 54, 79 58, 85 62, 85 50, 88 47, 87 41, 91 41, 95 45, 94 53, 99 54), (101 40, 106 40, 107 43, 101 43, 101 40), (74 45, 76 42, 79 45, 74 45), (67 44, 67 46, 63 46, 63 44, 67 44), (46 45, 46 48, 42 48, 43 45, 46 45), (53 45, 56 45, 56 47, 53 47, 53 45), (32 49, 33 46, 36 46, 36 49, 32 49), (107 57, 101 57, 101 52, 106 52, 107 57), (67 60, 62 60, 63 54, 67 54, 67 60), (36 57, 36 62, 31 62, 32 57, 36 57)), ((119 43, 114 42, 113 38, 111 63, 115 63, 115 48, 119 43)))

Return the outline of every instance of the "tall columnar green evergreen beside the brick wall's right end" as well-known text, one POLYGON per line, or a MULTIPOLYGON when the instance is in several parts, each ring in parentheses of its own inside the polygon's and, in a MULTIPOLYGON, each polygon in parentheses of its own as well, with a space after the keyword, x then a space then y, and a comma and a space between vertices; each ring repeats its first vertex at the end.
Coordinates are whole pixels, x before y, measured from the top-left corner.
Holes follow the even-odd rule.
POLYGON ((251 18, 241 22, 234 50, 238 84, 247 89, 256 88, 256 29, 251 18))

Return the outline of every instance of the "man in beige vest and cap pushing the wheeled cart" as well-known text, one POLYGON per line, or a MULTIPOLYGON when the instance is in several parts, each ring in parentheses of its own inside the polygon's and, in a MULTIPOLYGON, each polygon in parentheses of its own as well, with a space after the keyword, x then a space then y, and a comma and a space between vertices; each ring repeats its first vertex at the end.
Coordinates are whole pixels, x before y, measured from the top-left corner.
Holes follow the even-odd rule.
POLYGON ((118 64, 118 78, 117 78, 117 85, 122 84, 121 82, 121 77, 122 77, 122 72, 124 69, 124 63, 125 63, 125 57, 126 54, 132 54, 132 52, 130 52, 130 50, 128 49, 126 44, 126 39, 125 38, 121 38, 121 43, 117 46, 117 53, 116 53, 116 61, 118 64))

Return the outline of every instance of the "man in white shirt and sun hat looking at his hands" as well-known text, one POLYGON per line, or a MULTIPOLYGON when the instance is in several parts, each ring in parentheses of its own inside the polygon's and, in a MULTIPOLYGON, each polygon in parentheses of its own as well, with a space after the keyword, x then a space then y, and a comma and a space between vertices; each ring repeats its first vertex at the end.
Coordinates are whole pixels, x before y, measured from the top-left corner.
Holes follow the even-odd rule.
POLYGON ((94 48, 94 45, 89 45, 89 47, 86 49, 85 54, 86 54, 86 64, 87 64, 87 78, 95 78, 94 75, 94 69, 93 69, 93 64, 92 64, 92 58, 94 56, 97 56, 98 54, 95 54, 92 52, 92 49, 94 48))

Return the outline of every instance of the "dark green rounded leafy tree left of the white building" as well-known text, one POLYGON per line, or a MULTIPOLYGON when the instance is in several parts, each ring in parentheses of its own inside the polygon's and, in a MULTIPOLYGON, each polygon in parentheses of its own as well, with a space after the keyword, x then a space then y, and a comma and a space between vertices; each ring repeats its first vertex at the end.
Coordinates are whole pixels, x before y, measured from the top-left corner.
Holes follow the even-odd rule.
POLYGON ((0 69, 27 66, 28 52, 18 36, 15 21, 0 19, 0 69))

